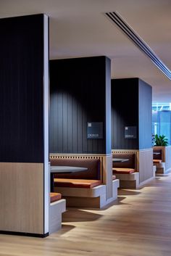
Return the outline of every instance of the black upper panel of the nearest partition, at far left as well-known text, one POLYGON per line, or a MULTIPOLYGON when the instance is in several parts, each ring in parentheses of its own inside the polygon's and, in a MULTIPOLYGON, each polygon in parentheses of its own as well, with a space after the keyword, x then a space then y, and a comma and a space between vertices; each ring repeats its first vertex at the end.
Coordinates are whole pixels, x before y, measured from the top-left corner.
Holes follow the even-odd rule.
POLYGON ((43 15, 0 20, 0 161, 43 162, 43 15))

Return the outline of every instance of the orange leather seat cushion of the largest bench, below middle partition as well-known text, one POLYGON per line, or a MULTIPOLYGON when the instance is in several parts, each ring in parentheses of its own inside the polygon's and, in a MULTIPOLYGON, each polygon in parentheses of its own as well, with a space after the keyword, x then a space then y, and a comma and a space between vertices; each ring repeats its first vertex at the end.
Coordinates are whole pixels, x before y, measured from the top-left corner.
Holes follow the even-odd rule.
POLYGON ((69 188, 92 189, 95 186, 101 185, 99 180, 80 180, 71 178, 54 178, 54 186, 64 186, 69 188))

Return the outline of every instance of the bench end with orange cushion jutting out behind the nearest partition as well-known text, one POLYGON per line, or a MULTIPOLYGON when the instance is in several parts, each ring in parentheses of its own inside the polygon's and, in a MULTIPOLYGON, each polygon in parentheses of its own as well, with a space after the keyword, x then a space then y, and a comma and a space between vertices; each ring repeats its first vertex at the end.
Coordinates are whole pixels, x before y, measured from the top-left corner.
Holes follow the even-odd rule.
POLYGON ((66 211, 66 200, 60 193, 50 193, 49 234, 62 227, 62 212, 66 211))

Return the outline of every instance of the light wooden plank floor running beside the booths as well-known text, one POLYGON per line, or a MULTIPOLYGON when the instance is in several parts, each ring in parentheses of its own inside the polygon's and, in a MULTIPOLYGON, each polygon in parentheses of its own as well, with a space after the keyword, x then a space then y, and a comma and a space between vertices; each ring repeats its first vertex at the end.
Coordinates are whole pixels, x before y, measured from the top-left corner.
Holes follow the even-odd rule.
POLYGON ((107 210, 70 208, 46 239, 0 235, 0 255, 171 256, 171 175, 119 194, 107 210))

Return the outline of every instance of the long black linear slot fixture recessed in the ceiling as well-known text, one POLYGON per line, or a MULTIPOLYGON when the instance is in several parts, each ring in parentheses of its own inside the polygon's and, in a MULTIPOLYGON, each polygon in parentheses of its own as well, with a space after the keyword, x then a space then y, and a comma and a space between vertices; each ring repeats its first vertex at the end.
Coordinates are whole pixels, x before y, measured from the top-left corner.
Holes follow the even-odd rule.
POLYGON ((109 18, 110 21, 112 21, 112 23, 116 24, 130 38, 130 40, 133 41, 133 43, 151 59, 152 62, 154 62, 154 65, 156 65, 159 70, 161 70, 162 73, 167 76, 167 78, 171 80, 170 69, 164 65, 157 54, 151 50, 148 44, 146 44, 146 42, 143 41, 143 39, 138 36, 138 34, 135 33, 132 28, 130 28, 130 25, 128 25, 128 23, 125 22, 125 20, 123 20, 117 12, 106 12, 105 15, 109 18))

